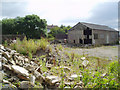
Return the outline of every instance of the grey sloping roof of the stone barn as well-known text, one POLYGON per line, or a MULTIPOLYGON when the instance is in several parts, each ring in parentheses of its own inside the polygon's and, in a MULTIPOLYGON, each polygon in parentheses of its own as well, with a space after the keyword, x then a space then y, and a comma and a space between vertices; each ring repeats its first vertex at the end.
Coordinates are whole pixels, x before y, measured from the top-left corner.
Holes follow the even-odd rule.
POLYGON ((98 24, 91 24, 91 23, 84 23, 84 22, 80 22, 80 23, 91 28, 91 29, 117 31, 117 30, 110 28, 108 26, 105 26, 105 25, 98 25, 98 24))

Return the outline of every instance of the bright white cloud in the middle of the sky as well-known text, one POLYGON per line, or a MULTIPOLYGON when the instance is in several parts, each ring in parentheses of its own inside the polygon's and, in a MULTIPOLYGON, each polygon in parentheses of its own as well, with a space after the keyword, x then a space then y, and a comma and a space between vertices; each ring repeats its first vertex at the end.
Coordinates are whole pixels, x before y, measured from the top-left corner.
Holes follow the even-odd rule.
MULTIPOLYGON (((96 0, 38 0, 30 1, 28 11, 34 12, 51 24, 67 24, 66 19, 89 18, 90 10, 98 1, 96 0)), ((74 22, 74 21, 73 21, 74 22)), ((70 25, 71 23, 69 23, 70 25)))

